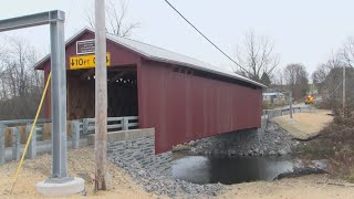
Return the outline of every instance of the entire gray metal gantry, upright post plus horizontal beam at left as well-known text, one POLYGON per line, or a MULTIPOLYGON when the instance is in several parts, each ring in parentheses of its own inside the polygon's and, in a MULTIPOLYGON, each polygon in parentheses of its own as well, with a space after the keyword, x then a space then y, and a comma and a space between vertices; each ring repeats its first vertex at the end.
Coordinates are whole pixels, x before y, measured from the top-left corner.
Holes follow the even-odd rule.
POLYGON ((66 174, 66 73, 65 73, 65 13, 60 10, 0 20, 0 32, 50 24, 52 71, 52 179, 67 180, 66 174))

